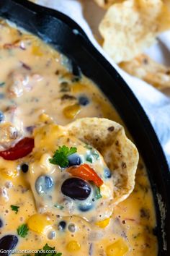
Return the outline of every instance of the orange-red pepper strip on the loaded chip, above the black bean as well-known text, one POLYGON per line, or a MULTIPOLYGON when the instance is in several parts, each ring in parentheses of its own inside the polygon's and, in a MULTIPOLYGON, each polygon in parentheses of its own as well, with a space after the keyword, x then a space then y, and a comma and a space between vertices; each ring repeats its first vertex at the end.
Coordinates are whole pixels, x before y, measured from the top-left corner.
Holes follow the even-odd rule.
POLYGON ((68 172, 73 176, 78 176, 86 181, 94 182, 97 187, 100 187, 103 184, 102 179, 97 175, 96 171, 86 163, 81 164, 81 166, 68 168, 68 172))

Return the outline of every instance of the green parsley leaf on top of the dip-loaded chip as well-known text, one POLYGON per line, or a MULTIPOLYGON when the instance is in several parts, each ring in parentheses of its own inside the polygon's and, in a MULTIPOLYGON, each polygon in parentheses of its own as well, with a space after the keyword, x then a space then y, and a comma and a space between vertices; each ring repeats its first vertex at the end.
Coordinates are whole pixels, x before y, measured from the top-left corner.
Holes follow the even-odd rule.
POLYGON ((58 164, 61 168, 68 166, 68 156, 76 153, 76 148, 68 148, 65 145, 59 147, 58 150, 55 151, 53 158, 50 158, 50 163, 58 164))

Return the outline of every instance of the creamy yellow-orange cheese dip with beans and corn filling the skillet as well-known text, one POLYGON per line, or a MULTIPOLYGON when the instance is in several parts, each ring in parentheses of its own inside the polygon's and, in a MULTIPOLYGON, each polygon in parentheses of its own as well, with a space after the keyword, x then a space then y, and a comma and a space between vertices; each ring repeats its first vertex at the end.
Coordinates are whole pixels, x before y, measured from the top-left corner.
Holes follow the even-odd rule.
MULTIPOLYGON (((0 151, 12 148, 23 137, 32 137, 35 127, 48 122, 66 125, 81 117, 95 116, 122 124, 99 88, 79 70, 72 70, 71 61, 3 20, 0 67, 0 151)), ((35 255, 33 250, 45 244, 63 256, 157 255, 156 215, 143 160, 140 158, 138 164, 135 189, 113 209, 109 181, 109 190, 101 189, 103 201, 93 200, 94 195, 77 205, 76 200, 68 202, 53 186, 68 174, 58 171, 56 176, 48 153, 43 152, 43 147, 55 150, 50 148, 55 132, 52 129, 45 138, 45 129, 35 135, 35 143, 42 147, 35 154, 15 161, 0 157, 0 249, 1 239, 14 235, 18 239, 15 249, 30 251, 15 255, 35 255)), ((76 143, 81 158, 76 161, 92 163, 91 157, 96 158, 94 167, 103 175, 107 166, 99 152, 86 148, 74 137, 59 134, 58 145, 71 148, 76 143), (91 150, 93 154, 88 158, 91 150)), ((92 187, 86 187, 87 194, 88 189, 92 187)), ((10 243, 10 237, 7 240, 10 243)))

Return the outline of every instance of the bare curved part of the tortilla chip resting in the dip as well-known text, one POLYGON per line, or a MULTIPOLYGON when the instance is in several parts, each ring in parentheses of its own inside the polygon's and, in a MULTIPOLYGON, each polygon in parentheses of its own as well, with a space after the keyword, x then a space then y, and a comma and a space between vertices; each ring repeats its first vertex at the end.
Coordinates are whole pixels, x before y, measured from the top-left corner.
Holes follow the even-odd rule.
POLYGON ((135 186, 138 150, 115 121, 83 118, 66 126, 68 134, 99 150, 114 177, 114 203, 125 200, 135 186))

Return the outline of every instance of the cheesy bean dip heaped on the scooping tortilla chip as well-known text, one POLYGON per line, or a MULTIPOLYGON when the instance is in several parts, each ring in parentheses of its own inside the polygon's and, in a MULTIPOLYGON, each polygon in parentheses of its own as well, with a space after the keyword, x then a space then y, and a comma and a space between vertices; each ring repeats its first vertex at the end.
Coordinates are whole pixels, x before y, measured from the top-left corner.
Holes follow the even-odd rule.
POLYGON ((39 213, 81 216, 87 221, 100 221, 112 214, 113 177, 104 158, 90 145, 68 135, 64 127, 47 124, 35 130, 35 149, 27 181, 39 213), (76 148, 76 153, 68 156, 66 167, 61 167, 62 162, 61 166, 50 163, 55 150, 60 147, 76 148), (102 181, 101 186, 97 186, 95 179, 75 174, 74 169, 79 172, 80 166, 94 171, 97 179, 102 181))

